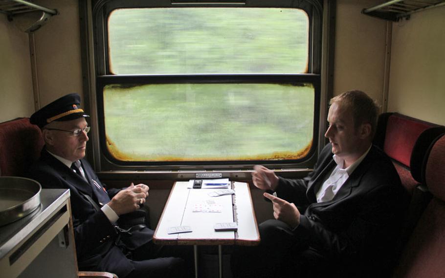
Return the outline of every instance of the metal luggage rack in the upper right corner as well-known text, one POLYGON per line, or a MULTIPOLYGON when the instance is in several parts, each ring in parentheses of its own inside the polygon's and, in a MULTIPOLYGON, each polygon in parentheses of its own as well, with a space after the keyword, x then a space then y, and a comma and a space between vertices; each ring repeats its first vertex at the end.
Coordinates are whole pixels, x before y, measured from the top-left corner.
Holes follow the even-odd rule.
POLYGON ((445 0, 392 0, 363 9, 362 14, 397 22, 411 14, 445 5, 445 0))

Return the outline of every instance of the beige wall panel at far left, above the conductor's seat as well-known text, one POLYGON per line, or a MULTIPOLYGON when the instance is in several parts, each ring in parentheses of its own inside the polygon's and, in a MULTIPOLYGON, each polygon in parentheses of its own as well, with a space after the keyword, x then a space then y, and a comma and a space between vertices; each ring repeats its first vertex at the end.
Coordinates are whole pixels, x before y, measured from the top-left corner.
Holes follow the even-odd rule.
POLYGON ((34 113, 28 34, 0 14, 0 122, 34 113))

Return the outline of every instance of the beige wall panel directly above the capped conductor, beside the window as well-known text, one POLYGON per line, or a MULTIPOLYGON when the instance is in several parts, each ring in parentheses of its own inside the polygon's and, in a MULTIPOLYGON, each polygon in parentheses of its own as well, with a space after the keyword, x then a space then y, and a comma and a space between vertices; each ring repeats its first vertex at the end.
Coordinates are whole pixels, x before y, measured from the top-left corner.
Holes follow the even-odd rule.
POLYGON ((59 15, 35 32, 41 107, 67 93, 82 96, 79 7, 76 0, 39 0, 59 15))

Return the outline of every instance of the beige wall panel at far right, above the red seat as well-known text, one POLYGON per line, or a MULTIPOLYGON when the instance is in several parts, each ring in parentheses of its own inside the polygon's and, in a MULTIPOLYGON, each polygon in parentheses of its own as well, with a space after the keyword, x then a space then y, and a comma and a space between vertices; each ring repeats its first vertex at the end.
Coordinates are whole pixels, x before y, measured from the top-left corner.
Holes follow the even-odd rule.
POLYGON ((445 6, 393 23, 388 111, 445 125, 445 6))

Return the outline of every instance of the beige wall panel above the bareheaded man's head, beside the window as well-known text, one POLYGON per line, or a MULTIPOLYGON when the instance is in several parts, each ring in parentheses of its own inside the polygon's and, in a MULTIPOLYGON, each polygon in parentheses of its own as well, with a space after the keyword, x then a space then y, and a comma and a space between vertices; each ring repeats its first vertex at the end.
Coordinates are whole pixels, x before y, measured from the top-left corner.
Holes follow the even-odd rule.
POLYGON ((361 14, 379 2, 337 1, 334 95, 357 89, 382 104, 386 22, 361 14))

